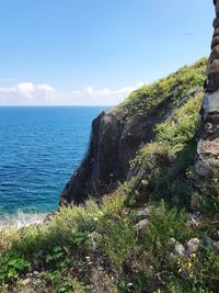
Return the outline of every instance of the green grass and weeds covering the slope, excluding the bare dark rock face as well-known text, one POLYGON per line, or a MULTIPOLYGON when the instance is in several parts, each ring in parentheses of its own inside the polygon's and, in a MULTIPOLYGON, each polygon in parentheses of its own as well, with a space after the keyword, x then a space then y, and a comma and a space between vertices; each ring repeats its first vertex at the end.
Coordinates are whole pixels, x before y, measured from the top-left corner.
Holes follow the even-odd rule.
POLYGON ((219 256, 210 246, 192 256, 170 255, 171 238, 185 244, 214 230, 208 221, 187 227, 188 214, 175 203, 188 206, 192 194, 199 192, 205 218, 218 215, 215 178, 199 182, 193 170, 205 65, 201 59, 142 87, 114 110, 126 109, 127 117, 166 99, 177 105, 157 126, 154 142, 131 162, 130 180, 104 196, 101 205, 90 200, 85 206, 62 209, 49 225, 1 234, 1 292, 13 286, 35 286, 38 293, 128 292, 128 283, 136 293, 217 292, 219 256), (205 196, 209 192, 210 201, 205 196), (147 228, 137 233, 139 205, 150 205, 152 212, 147 228), (27 280, 26 273, 34 270, 41 277, 27 280))

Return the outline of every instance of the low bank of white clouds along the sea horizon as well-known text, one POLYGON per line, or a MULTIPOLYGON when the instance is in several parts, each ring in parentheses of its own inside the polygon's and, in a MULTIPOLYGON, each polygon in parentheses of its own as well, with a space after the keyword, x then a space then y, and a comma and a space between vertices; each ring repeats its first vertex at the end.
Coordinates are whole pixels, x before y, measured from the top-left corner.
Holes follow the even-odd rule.
POLYGON ((117 90, 87 87, 61 92, 47 83, 20 82, 11 88, 0 88, 0 105, 113 105, 142 84, 117 90))

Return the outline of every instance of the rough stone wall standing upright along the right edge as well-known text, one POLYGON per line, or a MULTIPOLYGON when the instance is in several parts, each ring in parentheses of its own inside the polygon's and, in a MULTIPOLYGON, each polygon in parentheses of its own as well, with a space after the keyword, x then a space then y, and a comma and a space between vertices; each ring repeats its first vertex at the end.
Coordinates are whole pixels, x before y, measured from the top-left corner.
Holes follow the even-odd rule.
POLYGON ((216 19, 211 54, 207 67, 201 129, 197 146, 196 172, 206 177, 219 167, 219 1, 214 0, 216 19))

